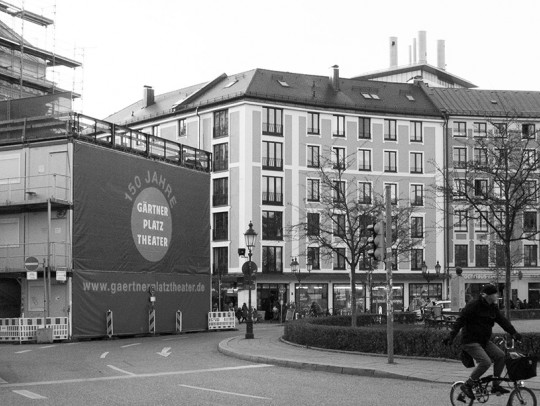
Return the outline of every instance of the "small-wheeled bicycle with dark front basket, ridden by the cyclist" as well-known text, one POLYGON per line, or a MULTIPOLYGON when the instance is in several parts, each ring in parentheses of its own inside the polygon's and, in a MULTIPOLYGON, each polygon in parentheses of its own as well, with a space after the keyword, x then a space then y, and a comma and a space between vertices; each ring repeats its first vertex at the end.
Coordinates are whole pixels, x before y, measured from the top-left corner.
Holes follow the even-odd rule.
POLYGON ((474 402, 486 403, 491 394, 491 386, 494 381, 500 381, 508 385, 510 389, 507 406, 527 405, 537 406, 536 395, 525 387, 524 379, 536 376, 536 357, 527 356, 514 351, 514 340, 503 337, 495 337, 495 343, 504 349, 506 359, 506 375, 502 378, 494 378, 489 375, 480 378, 478 383, 473 386, 474 399, 470 399, 461 390, 463 381, 457 381, 452 384, 450 389, 450 401, 452 406, 472 405, 474 402), (510 344, 509 344, 510 342, 510 344))

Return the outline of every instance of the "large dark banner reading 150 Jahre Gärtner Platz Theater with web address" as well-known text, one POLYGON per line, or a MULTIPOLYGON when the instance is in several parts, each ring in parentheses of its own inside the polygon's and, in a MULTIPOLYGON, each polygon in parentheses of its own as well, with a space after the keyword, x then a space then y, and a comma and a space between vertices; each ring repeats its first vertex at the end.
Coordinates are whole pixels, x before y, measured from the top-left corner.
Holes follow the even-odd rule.
POLYGON ((207 327, 208 173, 74 142, 73 336, 207 327))

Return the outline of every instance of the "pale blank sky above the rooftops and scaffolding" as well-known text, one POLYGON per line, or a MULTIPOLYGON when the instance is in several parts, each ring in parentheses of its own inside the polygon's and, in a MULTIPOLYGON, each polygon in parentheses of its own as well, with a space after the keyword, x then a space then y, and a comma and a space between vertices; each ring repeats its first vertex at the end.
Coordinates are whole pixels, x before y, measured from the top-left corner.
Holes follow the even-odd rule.
MULTIPOLYGON (((79 60, 55 77, 82 94, 78 111, 96 118, 142 98, 255 68, 342 77, 398 64, 426 31, 427 60, 482 89, 540 91, 538 0, 9 0, 52 17, 38 28, 9 18, 36 46, 79 60), (43 44, 45 42, 45 44, 43 44)), ((5 21, 5 20, 4 20, 5 21)))

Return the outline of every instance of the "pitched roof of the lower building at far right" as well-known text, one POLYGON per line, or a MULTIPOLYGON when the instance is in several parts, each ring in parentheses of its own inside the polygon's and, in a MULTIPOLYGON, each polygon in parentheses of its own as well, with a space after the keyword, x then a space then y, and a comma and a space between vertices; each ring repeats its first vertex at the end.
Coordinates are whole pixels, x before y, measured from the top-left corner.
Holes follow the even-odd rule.
POLYGON ((450 115, 540 117, 540 92, 422 88, 442 112, 450 115))

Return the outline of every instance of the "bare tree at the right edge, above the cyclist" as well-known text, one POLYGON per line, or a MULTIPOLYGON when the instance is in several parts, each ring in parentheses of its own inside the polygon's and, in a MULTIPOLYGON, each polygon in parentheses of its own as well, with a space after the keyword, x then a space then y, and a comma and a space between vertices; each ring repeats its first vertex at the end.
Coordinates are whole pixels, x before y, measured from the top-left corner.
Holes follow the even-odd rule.
POLYGON ((439 189, 451 202, 454 230, 468 230, 472 221, 485 234, 491 251, 486 268, 504 269, 509 317, 512 271, 527 256, 521 242, 538 236, 539 143, 534 125, 513 114, 486 121, 492 129, 475 129, 474 140, 454 137, 453 167, 439 189), (471 159, 464 158, 467 151, 471 159))

